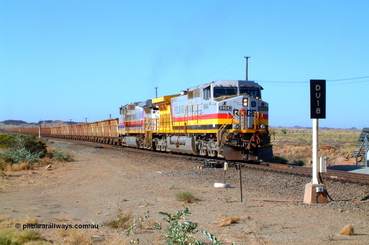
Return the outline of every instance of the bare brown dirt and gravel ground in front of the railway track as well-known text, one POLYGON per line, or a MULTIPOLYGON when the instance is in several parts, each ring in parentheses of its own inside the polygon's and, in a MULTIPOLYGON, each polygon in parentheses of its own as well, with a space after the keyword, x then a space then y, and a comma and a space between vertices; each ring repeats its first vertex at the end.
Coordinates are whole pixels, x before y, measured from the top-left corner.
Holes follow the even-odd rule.
MULTIPOLYGON (((144 216, 149 210, 151 222, 162 222, 163 216, 157 213, 175 213, 188 206, 177 201, 175 194, 190 191, 201 201, 190 205, 192 216, 188 220, 197 222, 199 229, 213 233, 224 244, 369 244, 369 214, 360 206, 342 210, 333 205, 256 201, 283 198, 270 195, 265 191, 268 187, 258 185, 244 185, 241 202, 237 178, 231 179, 232 188, 214 188, 214 182, 224 180, 221 169, 204 169, 201 171, 209 174, 194 175, 192 170, 200 164, 182 158, 94 149, 62 141, 48 145, 66 147, 64 150, 72 153, 73 161, 53 161, 51 170, 40 166, 8 173, 8 179, 0 180, 0 214, 11 219, 30 215, 42 224, 94 221, 101 227, 104 221, 114 219, 118 210, 133 217, 144 216), (218 222, 232 215, 240 217, 241 222, 219 227, 218 222), (354 225, 356 235, 339 235, 348 224, 354 225)), ((231 169, 227 175, 236 176, 238 171, 231 169)), ((303 196, 293 198, 302 200, 303 196)), ((164 232, 149 225, 145 221, 129 238, 139 238, 140 244, 162 244, 164 232)), ((40 231, 47 240, 64 239, 57 229, 40 231)), ((104 234, 114 231, 106 226, 101 228, 104 234)), ((96 237, 101 234, 97 230, 89 232, 96 237)))

